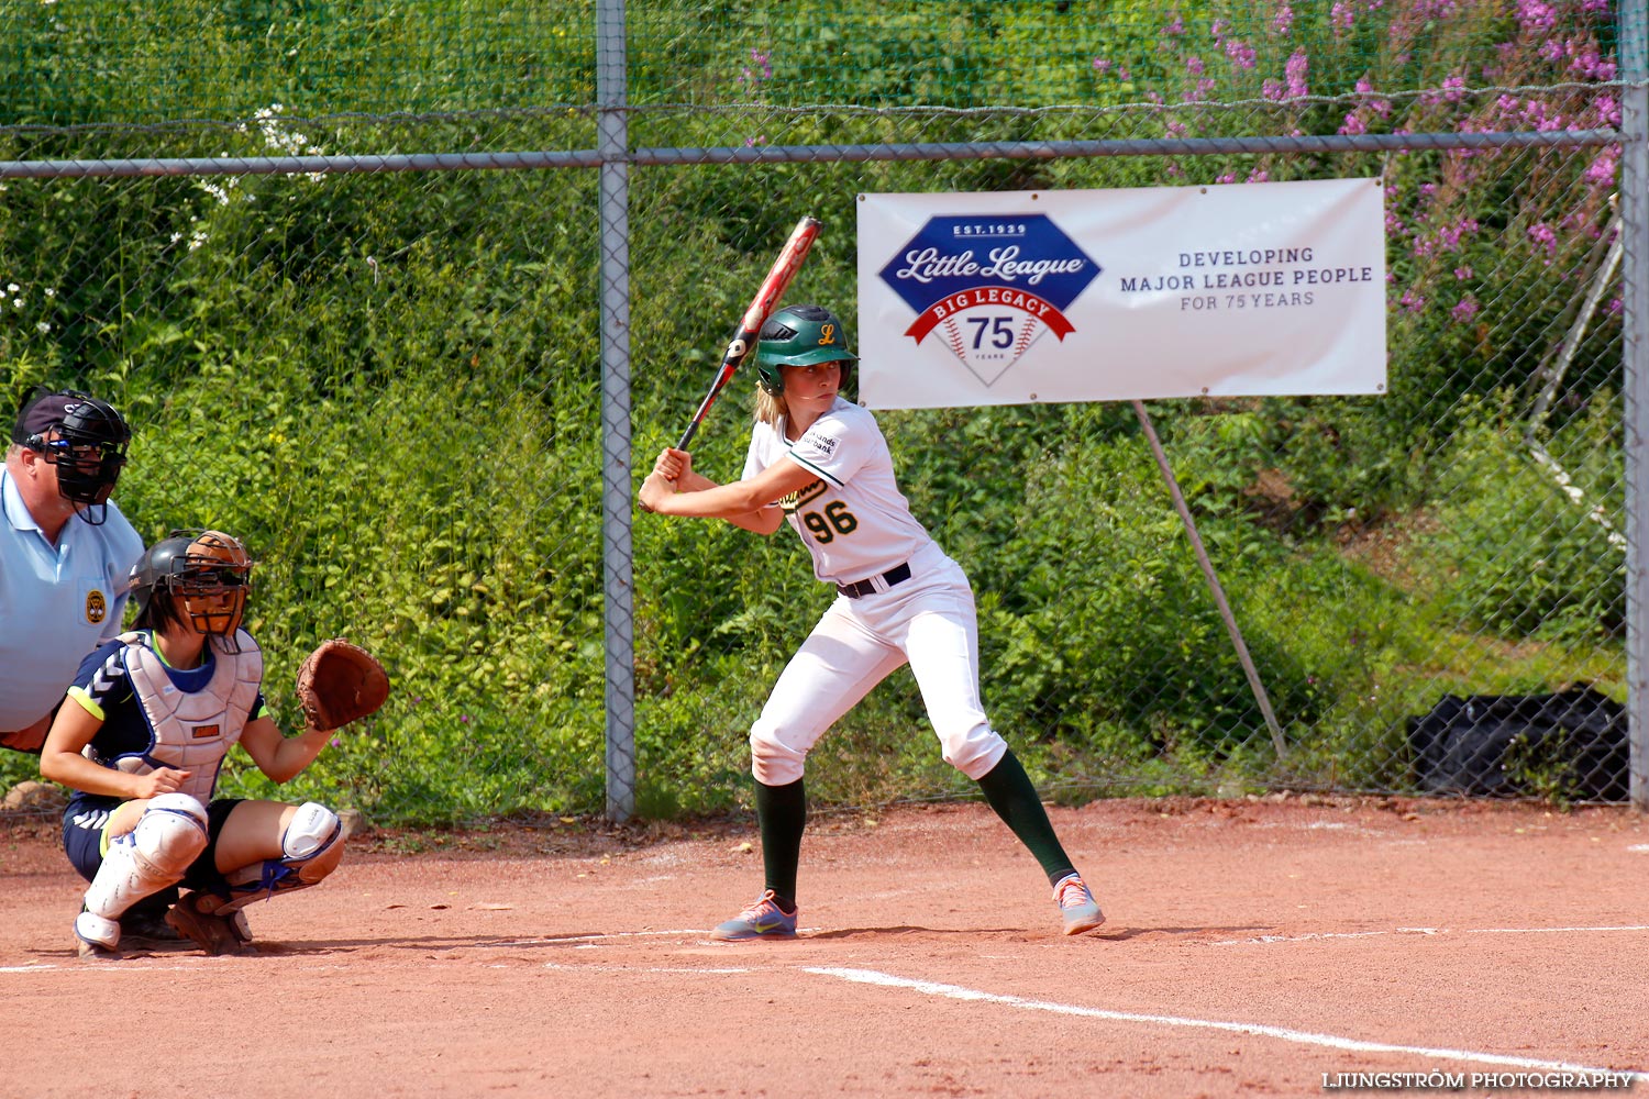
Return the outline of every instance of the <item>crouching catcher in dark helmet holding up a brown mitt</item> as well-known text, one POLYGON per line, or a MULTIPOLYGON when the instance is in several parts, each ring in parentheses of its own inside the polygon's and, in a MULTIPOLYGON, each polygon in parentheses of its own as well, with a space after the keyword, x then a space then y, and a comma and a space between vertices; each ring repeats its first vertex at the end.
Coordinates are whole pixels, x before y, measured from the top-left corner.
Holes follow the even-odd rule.
POLYGON ((383 667, 343 641, 298 672, 307 728, 284 737, 264 705, 264 659, 241 629, 252 559, 219 531, 173 531, 132 567, 132 629, 81 662, 46 737, 40 773, 73 788, 63 847, 91 886, 74 919, 81 957, 120 957, 119 916, 145 896, 188 890, 167 923, 209 954, 251 954, 244 908, 302 890, 343 857, 327 806, 213 797, 239 743, 285 783, 331 730, 373 713, 383 667))

